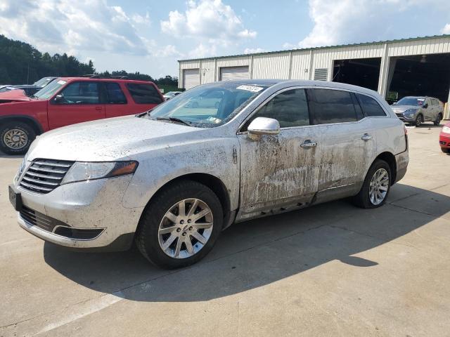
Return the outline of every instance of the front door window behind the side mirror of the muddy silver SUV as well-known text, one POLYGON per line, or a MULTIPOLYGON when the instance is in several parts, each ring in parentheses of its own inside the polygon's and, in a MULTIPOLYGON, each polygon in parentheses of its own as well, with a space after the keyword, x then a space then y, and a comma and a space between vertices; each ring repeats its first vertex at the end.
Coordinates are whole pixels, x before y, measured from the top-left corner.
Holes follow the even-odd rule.
POLYGON ((309 125, 306 92, 304 89, 293 89, 276 95, 245 123, 242 131, 247 131, 250 123, 257 117, 274 118, 281 128, 309 125))

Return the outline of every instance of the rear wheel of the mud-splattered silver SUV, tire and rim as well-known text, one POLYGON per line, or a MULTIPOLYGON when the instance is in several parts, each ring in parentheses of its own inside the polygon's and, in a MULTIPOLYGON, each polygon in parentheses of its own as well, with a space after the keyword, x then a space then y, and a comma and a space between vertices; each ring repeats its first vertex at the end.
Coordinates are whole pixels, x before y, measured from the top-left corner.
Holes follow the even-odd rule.
POLYGON ((368 170, 363 187, 353 198, 356 206, 375 209, 385 204, 391 185, 391 170, 386 161, 377 159, 368 170))

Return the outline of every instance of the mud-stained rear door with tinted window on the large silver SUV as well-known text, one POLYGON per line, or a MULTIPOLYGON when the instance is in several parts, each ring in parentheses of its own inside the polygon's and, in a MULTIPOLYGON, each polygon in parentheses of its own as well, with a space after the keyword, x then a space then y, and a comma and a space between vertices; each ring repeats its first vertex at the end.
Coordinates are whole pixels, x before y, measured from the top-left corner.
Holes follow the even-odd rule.
POLYGON ((321 133, 317 201, 356 194, 376 152, 376 135, 354 93, 331 88, 308 91, 312 121, 321 133))

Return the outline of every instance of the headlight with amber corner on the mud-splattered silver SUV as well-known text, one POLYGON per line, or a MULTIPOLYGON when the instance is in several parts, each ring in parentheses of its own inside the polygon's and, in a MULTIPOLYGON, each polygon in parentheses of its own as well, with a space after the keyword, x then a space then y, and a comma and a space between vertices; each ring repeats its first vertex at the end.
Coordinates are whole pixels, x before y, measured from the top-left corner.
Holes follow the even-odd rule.
POLYGON ((61 185, 75 183, 77 181, 110 178, 132 174, 138 167, 137 161, 105 161, 82 162, 77 161, 65 174, 61 185))

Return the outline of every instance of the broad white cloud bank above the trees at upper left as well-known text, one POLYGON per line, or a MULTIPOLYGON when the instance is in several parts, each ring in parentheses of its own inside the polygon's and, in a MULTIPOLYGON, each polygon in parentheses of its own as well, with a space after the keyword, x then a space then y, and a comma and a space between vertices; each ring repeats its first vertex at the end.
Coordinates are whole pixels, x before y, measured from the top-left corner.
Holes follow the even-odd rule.
POLYGON ((0 34, 42 51, 103 51, 144 55, 146 44, 134 25, 148 15, 129 16, 105 0, 1 0, 0 34))

